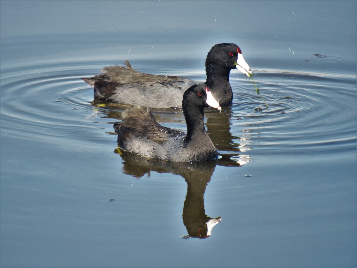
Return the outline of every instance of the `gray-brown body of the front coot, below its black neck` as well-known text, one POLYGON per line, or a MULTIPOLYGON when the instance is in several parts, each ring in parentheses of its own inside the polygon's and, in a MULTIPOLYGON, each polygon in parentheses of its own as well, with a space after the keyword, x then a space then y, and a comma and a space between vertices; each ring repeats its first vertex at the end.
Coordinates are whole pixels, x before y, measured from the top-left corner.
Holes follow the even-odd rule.
POLYGON ((161 126, 149 110, 144 110, 139 105, 125 110, 122 119, 120 124, 114 125, 114 129, 119 135, 120 147, 127 152, 170 162, 218 157, 217 150, 204 129, 197 142, 186 142, 185 132, 161 126))

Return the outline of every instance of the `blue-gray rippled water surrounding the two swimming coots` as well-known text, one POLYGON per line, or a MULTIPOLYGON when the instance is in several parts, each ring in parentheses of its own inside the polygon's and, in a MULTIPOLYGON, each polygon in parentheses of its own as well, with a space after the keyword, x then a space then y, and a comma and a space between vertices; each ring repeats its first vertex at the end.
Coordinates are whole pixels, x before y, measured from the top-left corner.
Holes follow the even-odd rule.
POLYGON ((0 266, 356 267, 356 3, 1 1, 0 266), (222 159, 114 153, 125 108, 80 78, 128 59, 205 81, 225 42, 270 106, 231 71, 205 114, 222 159), (202 215, 222 221, 182 238, 202 215))

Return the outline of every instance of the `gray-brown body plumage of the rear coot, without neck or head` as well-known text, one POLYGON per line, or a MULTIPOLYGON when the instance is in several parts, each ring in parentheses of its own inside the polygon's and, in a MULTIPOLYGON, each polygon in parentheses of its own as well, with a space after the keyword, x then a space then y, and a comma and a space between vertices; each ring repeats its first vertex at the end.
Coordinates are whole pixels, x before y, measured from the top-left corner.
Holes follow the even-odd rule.
POLYGON ((183 93, 198 83, 178 76, 139 73, 129 61, 124 64, 126 67, 105 67, 103 74, 82 79, 94 86, 96 98, 152 108, 181 108, 183 93))

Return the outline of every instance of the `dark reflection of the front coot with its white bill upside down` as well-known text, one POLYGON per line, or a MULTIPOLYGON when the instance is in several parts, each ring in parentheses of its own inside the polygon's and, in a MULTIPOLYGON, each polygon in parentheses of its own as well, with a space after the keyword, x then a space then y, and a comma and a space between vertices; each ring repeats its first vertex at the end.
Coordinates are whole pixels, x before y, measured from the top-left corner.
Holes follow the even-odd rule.
POLYGON ((182 219, 188 236, 207 238, 212 228, 221 221, 221 217, 210 218, 206 215, 203 195, 207 183, 217 165, 217 160, 190 163, 162 162, 138 157, 128 152, 116 150, 123 162, 123 173, 140 178, 151 171, 181 175, 187 183, 186 200, 183 203, 182 219))

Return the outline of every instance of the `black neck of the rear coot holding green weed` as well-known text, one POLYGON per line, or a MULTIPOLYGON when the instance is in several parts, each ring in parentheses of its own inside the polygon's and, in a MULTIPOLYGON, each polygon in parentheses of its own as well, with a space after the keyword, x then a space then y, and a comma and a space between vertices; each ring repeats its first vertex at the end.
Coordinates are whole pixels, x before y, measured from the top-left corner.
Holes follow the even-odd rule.
POLYGON ((219 104, 230 104, 233 100, 233 92, 229 83, 230 66, 219 66, 212 61, 206 61, 206 85, 211 90, 213 97, 219 104))

